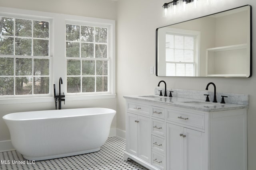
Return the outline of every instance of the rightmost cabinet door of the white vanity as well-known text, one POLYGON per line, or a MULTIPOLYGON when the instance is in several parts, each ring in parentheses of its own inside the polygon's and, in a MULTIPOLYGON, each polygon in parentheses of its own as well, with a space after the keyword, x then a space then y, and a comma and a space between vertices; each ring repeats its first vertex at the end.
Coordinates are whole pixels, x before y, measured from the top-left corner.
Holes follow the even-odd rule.
POLYGON ((202 170, 204 133, 184 128, 184 169, 202 170))

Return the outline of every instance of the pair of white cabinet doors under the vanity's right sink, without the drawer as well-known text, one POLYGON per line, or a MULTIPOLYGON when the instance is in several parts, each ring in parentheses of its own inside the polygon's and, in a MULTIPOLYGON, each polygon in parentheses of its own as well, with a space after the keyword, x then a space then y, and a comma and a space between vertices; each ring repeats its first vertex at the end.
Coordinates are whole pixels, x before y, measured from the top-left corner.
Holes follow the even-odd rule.
POLYGON ((167 123, 167 169, 204 170, 204 133, 167 123))

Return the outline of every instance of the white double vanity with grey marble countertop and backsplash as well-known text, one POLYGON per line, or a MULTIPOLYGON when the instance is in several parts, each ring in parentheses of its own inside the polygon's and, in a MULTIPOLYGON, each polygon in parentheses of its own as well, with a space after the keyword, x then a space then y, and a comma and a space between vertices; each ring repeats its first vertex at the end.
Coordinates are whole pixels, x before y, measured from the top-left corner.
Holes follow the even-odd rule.
POLYGON ((124 96, 124 160, 150 170, 247 170, 248 95, 217 93, 216 103, 208 91, 161 90, 124 96))

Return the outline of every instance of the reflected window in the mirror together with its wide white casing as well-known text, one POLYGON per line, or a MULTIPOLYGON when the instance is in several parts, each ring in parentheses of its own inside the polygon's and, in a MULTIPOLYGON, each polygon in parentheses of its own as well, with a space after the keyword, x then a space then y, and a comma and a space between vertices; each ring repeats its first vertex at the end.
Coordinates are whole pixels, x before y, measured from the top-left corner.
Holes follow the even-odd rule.
POLYGON ((200 31, 165 27, 158 30, 158 74, 166 76, 197 76, 199 72, 200 31), (165 43, 161 45, 162 43, 165 43), (165 49, 163 49, 165 48, 165 49))

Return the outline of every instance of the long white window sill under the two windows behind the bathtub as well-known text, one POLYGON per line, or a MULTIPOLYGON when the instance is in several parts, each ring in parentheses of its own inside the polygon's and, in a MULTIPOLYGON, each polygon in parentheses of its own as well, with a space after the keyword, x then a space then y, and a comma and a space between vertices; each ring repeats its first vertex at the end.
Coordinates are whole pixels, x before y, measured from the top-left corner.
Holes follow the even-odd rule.
MULTIPOLYGON (((116 94, 65 96, 65 101, 96 100, 96 99, 110 99, 110 98, 116 98, 116 94)), ((1 104, 22 104, 22 103, 44 103, 44 102, 54 102, 54 97, 0 99, 0 105, 1 104)))

